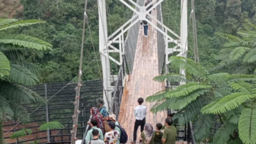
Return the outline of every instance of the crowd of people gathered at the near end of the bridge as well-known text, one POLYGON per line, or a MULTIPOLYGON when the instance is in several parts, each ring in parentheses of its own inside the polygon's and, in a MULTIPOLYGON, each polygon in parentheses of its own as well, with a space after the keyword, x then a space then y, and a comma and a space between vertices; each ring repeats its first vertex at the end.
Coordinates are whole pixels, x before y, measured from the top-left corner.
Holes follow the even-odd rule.
MULTIPOLYGON (((141 130, 141 136, 139 144, 174 144, 176 141, 177 130, 173 126, 173 114, 168 114, 165 119, 165 126, 162 123, 153 126, 146 123, 146 109, 147 107, 142 105, 143 98, 138 99, 138 106, 134 108, 134 130, 132 144, 136 144, 137 130, 141 130)), ((91 120, 88 124, 91 126, 91 130, 85 137, 86 144, 120 144, 121 134, 126 133, 122 131, 120 124, 116 120, 115 114, 108 114, 107 108, 104 107, 104 100, 102 98, 97 99, 99 109, 97 107, 91 107, 91 120)), ((137 142, 138 143, 138 142, 137 142)))

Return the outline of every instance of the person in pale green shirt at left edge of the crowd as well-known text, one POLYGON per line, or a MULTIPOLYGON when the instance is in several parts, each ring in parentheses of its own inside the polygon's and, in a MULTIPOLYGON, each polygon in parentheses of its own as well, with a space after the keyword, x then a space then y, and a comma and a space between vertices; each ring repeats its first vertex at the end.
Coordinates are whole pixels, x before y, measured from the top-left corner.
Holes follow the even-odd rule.
POLYGON ((99 139, 103 140, 104 139, 103 133, 102 133, 101 129, 97 127, 98 121, 91 119, 90 123, 88 123, 88 124, 91 126, 91 130, 89 130, 88 133, 86 134, 85 143, 89 144, 90 140, 94 139, 94 137, 92 135, 93 130, 98 130, 98 132, 100 133, 99 139))

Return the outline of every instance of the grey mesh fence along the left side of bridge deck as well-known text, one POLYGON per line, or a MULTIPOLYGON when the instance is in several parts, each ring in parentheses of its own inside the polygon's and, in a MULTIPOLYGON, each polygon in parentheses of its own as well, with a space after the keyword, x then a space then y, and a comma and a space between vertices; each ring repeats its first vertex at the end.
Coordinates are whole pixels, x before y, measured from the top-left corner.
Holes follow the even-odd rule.
MULTIPOLYGON (((137 4, 142 6, 144 4, 144 1, 137 0, 137 4)), ((139 8, 136 8, 136 11, 139 11, 139 8)), ((135 13, 133 15, 135 15, 135 13)), ((131 24, 134 21, 136 21, 136 19, 137 18, 135 18, 131 22, 131 24)), ((133 72, 133 62, 134 62, 136 46, 137 46, 137 41, 138 41, 138 36, 139 36, 139 27, 140 27, 140 22, 138 21, 136 24, 133 25, 133 27, 130 28, 130 30, 128 31, 126 40, 125 40, 125 45, 124 45, 127 66, 130 69, 130 73, 133 72)))

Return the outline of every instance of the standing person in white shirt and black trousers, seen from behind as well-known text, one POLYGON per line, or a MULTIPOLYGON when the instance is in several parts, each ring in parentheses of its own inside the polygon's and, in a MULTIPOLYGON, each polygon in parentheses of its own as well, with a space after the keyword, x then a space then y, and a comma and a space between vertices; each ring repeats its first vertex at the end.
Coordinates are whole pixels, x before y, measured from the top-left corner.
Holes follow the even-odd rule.
POLYGON ((138 99, 139 105, 134 108, 134 116, 136 118, 135 123, 134 123, 134 131, 133 131, 133 140, 132 143, 136 143, 137 139, 137 130, 140 126, 140 131, 143 132, 144 126, 146 123, 146 106, 143 106, 144 100, 143 98, 138 99))

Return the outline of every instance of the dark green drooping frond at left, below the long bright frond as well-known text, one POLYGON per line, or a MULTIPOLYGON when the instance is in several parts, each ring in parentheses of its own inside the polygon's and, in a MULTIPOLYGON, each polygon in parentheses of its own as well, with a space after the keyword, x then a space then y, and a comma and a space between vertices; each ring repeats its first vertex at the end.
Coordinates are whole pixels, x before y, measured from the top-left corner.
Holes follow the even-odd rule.
POLYGON ((28 69, 16 64, 11 64, 9 79, 11 82, 16 82, 21 85, 36 85, 37 82, 39 82, 36 75, 28 69))

